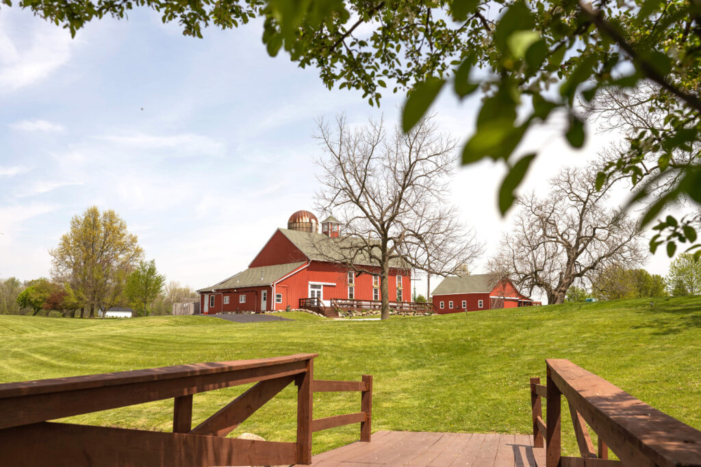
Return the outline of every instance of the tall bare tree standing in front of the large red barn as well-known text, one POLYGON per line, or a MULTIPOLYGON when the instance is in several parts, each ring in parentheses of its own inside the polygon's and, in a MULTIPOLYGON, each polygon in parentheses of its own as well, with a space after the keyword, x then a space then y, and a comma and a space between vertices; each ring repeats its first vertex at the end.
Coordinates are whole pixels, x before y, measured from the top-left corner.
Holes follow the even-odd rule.
POLYGON ((343 224, 343 235, 329 249, 356 274, 380 272, 381 316, 389 316, 390 268, 451 274, 470 264, 482 246, 465 234, 447 204, 454 172, 455 141, 437 131, 430 118, 409 134, 382 121, 352 129, 344 116, 332 130, 323 121, 315 137, 323 156, 320 211, 343 224))

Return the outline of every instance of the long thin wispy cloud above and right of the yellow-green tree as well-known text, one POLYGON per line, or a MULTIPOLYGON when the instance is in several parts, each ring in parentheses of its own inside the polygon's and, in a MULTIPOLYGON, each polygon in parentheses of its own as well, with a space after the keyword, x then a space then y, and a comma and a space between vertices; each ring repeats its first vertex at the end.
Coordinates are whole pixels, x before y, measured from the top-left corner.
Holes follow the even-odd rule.
POLYGON ((105 135, 96 137, 100 141, 130 146, 146 150, 170 151, 171 155, 224 155, 225 145, 218 139, 201 134, 182 133, 171 135, 155 135, 145 133, 105 135))

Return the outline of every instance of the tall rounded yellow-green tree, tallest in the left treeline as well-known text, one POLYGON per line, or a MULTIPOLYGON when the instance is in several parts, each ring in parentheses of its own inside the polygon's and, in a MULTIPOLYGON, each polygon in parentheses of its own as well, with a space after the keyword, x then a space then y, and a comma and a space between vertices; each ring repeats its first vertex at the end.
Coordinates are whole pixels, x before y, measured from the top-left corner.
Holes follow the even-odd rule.
POLYGON ((93 318, 95 309, 121 300, 126 275, 144 251, 115 211, 93 206, 72 218, 69 232, 49 253, 55 278, 71 284, 93 318))

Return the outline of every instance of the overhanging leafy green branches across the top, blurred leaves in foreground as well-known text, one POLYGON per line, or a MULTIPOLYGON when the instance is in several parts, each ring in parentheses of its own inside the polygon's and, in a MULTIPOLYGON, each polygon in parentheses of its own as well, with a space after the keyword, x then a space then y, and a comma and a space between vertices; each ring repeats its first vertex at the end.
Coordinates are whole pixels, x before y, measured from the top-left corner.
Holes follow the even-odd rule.
MULTIPOLYGON (((11 0, 0 0, 11 4, 11 0)), ((485 158, 508 169, 498 194, 505 212, 537 153, 518 157, 526 134, 553 113, 566 115, 564 129, 573 147, 585 142, 587 128, 576 104, 594 102, 600 92, 658 87, 650 101, 664 115, 662 127, 642 127, 627 139, 618 157, 601 172, 606 179, 627 178, 637 190, 671 175, 656 193, 643 222, 658 218, 670 202, 688 197, 701 202, 700 141, 701 6, 688 0, 20 0, 22 8, 71 34, 93 18, 124 18, 137 6, 177 21, 183 33, 202 36, 213 23, 222 29, 261 18, 268 54, 281 49, 300 67, 316 67, 332 88, 362 90, 379 105, 385 90, 411 89, 403 109, 405 131, 426 113, 444 88, 457 99, 483 93, 477 128, 465 144, 464 164, 485 158), (496 15, 491 11, 498 11, 496 15), (358 34, 362 26, 364 34, 358 34), (482 69, 473 72, 473 69, 482 69), (553 85, 557 86, 553 90, 553 85), (654 165, 646 155, 655 154, 654 165)), ((656 226, 651 249, 696 241, 690 219, 667 216, 656 226)), ((694 248, 701 248, 695 243, 694 248)), ((701 255, 701 250, 700 253, 701 255)))

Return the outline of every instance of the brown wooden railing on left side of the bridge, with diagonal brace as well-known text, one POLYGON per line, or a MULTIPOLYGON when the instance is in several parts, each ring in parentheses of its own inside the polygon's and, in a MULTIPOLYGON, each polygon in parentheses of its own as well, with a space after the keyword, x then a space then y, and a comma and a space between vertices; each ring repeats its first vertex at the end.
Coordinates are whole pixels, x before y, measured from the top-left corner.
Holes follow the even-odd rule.
POLYGON ((312 433, 360 422, 370 440, 372 376, 362 382, 313 380, 317 354, 198 363, 0 384, 0 464, 7 466, 250 466, 311 463, 312 433), (195 393, 256 382, 192 425, 195 393), (226 438, 285 386, 297 385, 297 441, 226 438), (316 391, 362 391, 362 411, 314 420, 316 391), (48 420, 174 398, 173 432, 48 420), (345 418, 341 418, 345 417, 345 418))

